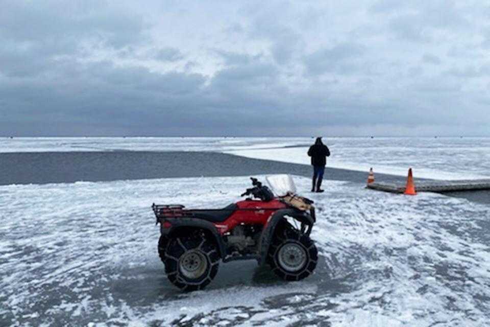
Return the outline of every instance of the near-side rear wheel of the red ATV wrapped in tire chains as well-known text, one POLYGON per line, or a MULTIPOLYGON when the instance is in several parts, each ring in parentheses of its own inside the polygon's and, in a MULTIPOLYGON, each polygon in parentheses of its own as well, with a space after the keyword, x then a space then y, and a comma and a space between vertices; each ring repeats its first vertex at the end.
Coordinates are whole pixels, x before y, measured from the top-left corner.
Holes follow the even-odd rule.
POLYGON ((168 280, 185 291, 201 290, 218 272, 219 254, 203 235, 170 239, 164 253, 168 280))

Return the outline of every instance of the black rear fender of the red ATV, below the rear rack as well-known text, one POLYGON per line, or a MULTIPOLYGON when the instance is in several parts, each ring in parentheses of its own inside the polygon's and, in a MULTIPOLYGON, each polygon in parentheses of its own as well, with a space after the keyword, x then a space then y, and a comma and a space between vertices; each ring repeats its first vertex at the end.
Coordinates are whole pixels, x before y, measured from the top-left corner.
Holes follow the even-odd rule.
POLYGON ((212 240, 216 242, 219 256, 222 259, 225 258, 225 242, 223 241, 223 238, 216 227, 209 221, 195 218, 175 218, 167 219, 167 221, 171 224, 170 228, 164 228, 163 224, 160 224, 161 236, 165 239, 165 243, 179 232, 187 228, 204 229, 208 232, 209 236, 211 236, 212 240))

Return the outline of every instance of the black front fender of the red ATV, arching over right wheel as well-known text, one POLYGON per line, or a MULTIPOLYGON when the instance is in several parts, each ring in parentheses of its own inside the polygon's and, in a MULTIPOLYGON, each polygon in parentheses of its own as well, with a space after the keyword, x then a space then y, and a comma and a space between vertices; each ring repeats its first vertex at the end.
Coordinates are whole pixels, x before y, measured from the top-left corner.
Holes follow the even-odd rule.
MULTIPOLYGON (((262 230, 262 235, 260 237, 259 243, 259 264, 263 265, 265 263, 265 259, 267 258, 267 252, 269 251, 269 246, 271 245, 272 238, 274 237, 274 232, 279 222, 285 218, 285 216, 294 218, 301 223, 308 225, 309 230, 311 230, 311 226, 313 226, 314 220, 304 211, 299 211, 298 209, 287 208, 276 211, 269 219, 267 220, 264 229, 262 230)), ((308 231, 309 233, 309 231, 308 231)))

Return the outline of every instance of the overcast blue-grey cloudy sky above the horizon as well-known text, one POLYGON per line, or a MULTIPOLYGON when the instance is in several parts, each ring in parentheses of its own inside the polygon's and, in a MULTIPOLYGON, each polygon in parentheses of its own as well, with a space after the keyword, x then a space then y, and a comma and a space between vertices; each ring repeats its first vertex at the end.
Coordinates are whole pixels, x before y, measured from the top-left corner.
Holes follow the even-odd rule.
POLYGON ((490 135, 488 1, 0 0, 0 135, 490 135))

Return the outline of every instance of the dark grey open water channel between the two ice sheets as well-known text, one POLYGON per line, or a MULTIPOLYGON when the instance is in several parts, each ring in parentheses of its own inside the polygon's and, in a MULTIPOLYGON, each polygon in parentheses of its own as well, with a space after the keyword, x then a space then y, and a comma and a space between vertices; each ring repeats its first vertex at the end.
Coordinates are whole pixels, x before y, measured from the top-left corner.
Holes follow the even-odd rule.
MULTIPOLYGON (((246 176, 287 173, 311 176, 311 167, 217 152, 26 152, 0 153, 0 185, 110 181, 171 177, 246 176)), ((405 177, 376 174, 378 180, 405 177)), ((325 179, 363 183, 367 173, 326 168, 325 179)), ((452 192, 449 196, 490 203, 490 192, 452 192)))

